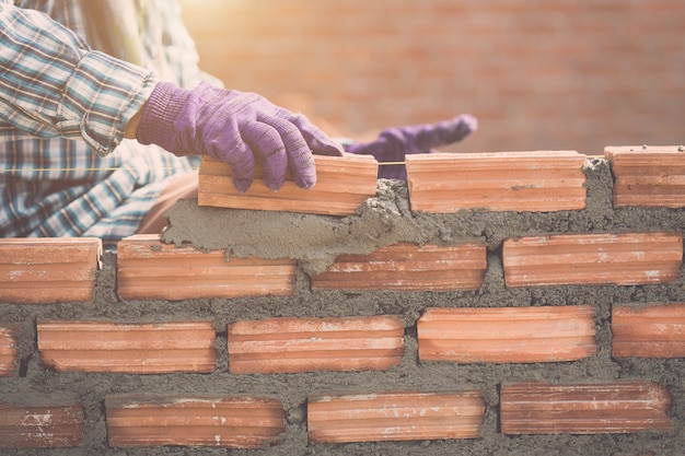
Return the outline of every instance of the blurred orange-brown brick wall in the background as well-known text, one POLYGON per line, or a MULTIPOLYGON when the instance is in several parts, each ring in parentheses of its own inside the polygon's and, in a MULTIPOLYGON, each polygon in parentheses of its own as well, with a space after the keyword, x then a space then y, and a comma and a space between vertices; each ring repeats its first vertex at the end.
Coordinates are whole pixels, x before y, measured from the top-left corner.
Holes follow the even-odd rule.
POLYGON ((683 0, 181 3, 204 69, 347 135, 472 113, 443 150, 685 142, 683 0))

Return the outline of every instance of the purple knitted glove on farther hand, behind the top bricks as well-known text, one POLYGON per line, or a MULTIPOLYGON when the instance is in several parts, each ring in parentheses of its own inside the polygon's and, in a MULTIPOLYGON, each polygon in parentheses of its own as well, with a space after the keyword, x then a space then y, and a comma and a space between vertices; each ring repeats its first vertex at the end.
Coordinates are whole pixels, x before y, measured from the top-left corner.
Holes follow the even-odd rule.
POLYGON ((405 155, 428 153, 432 148, 461 141, 477 128, 478 120, 474 116, 462 114, 451 120, 437 124, 387 128, 381 131, 375 141, 353 142, 345 149, 346 152, 359 155, 373 155, 380 163, 380 178, 406 180, 407 169, 404 164, 384 165, 383 163, 404 162, 405 155))

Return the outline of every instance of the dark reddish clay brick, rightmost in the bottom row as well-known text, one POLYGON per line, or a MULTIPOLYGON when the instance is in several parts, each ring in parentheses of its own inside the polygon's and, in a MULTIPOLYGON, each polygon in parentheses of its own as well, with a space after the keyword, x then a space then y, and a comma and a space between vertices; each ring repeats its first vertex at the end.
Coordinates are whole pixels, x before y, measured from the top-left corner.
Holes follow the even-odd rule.
POLYGON ((664 431, 671 396, 649 381, 594 385, 504 384, 502 434, 600 434, 664 431))

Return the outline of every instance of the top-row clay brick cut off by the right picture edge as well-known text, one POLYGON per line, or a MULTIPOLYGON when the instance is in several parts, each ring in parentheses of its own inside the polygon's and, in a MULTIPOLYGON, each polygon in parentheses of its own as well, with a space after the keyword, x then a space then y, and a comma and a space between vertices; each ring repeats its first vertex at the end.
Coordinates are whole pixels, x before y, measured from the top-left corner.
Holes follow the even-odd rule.
POLYGON ((607 147, 614 174, 614 207, 685 207, 685 152, 682 147, 607 147))

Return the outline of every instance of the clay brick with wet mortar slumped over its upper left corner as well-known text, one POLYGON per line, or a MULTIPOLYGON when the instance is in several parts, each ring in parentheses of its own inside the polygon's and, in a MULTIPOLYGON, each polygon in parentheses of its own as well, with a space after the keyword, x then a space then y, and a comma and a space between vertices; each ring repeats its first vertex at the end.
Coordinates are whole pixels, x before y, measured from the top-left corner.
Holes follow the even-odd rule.
POLYGON ((320 290, 477 290, 486 268, 486 246, 479 241, 455 246, 402 243, 370 255, 340 255, 311 283, 320 290))

